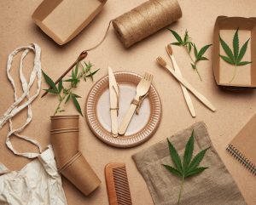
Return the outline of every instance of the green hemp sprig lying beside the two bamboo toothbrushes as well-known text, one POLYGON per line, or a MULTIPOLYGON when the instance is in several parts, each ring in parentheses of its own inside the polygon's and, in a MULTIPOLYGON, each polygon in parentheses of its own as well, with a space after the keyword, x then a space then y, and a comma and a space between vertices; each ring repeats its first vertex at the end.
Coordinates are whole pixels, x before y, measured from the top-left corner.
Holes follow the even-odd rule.
POLYGON ((191 37, 189 37, 189 32, 186 30, 185 31, 185 34, 184 34, 184 37, 182 38, 179 34, 177 34, 176 31, 173 31, 171 29, 168 28, 169 31, 172 32, 172 35, 176 38, 177 42, 175 43, 171 43, 172 45, 175 45, 175 46, 182 46, 183 48, 186 49, 187 53, 189 54, 189 58, 190 60, 192 61, 190 64, 192 66, 192 68, 196 71, 198 77, 200 78, 200 80, 202 81, 202 78, 201 78, 201 74, 200 72, 198 71, 198 68, 197 68, 197 63, 201 60, 208 60, 205 56, 203 56, 206 52, 207 52, 207 49, 210 48, 212 46, 212 44, 208 44, 204 47, 202 47, 199 51, 198 49, 196 48, 196 45, 195 43, 193 43, 191 41, 191 37), (195 60, 192 58, 192 55, 191 55, 191 50, 192 48, 194 48, 194 55, 195 55, 195 60))

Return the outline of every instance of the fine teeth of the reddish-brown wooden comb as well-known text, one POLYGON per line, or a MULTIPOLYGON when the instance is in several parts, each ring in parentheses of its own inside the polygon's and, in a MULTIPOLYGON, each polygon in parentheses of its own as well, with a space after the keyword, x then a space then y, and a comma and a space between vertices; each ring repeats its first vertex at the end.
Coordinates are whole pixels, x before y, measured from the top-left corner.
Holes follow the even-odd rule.
POLYGON ((131 194, 126 169, 113 168, 113 181, 119 205, 131 205, 131 194))

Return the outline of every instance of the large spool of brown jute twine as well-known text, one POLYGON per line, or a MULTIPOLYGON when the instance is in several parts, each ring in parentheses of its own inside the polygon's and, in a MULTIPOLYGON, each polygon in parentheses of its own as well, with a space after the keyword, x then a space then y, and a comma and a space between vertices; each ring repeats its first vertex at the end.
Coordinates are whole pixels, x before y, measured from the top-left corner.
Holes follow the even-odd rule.
POLYGON ((149 0, 113 20, 113 28, 125 48, 128 48, 181 16, 177 0, 149 0))

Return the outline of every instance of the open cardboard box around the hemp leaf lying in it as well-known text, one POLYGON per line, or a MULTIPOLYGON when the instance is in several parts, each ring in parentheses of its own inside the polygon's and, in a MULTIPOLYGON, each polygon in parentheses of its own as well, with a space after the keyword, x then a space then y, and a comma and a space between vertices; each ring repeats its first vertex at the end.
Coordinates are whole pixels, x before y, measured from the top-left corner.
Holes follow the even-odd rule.
POLYGON ((219 86, 230 89, 256 88, 256 18, 218 16, 214 26, 212 54, 213 73, 219 86), (235 68, 219 57, 219 54, 226 54, 219 43, 218 35, 233 50, 232 40, 237 28, 240 48, 250 38, 242 60, 252 61, 252 64, 237 66, 236 77, 230 82, 235 68))

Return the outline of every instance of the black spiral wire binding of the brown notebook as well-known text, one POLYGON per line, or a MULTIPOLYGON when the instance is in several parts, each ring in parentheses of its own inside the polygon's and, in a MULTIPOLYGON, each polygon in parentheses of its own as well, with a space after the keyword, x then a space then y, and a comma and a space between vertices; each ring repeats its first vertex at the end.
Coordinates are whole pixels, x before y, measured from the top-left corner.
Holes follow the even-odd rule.
POLYGON ((235 157, 238 162, 240 162, 243 166, 245 166, 252 174, 256 175, 256 166, 250 162, 247 157, 244 157, 240 151, 236 149, 233 145, 228 145, 226 148, 227 151, 230 152, 230 154, 235 157))

